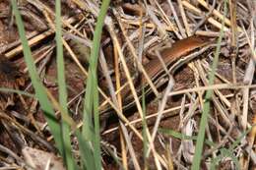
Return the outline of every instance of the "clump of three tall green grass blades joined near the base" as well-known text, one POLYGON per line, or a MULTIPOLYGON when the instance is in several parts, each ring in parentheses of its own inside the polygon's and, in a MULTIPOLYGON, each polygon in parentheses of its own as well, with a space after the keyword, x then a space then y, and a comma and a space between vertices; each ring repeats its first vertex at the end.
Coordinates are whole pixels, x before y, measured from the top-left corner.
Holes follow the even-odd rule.
MULTIPOLYGON (((57 44, 57 70, 58 70, 58 86, 59 86, 59 102, 55 102, 54 98, 41 84, 40 79, 36 73, 36 68, 33 64, 32 51, 29 46, 24 24, 21 14, 18 10, 16 0, 12 0, 13 12, 15 14, 20 38, 24 49, 24 57, 29 68, 29 74, 32 80, 35 97, 40 103, 40 108, 43 110, 44 116, 54 137, 54 141, 63 157, 67 169, 78 169, 75 164, 74 157, 71 150, 70 134, 72 130, 79 140, 80 153, 82 157, 82 169, 101 169, 101 155, 100 155, 100 138, 99 138, 99 116, 98 116, 98 93, 96 80, 96 64, 99 49, 99 41, 101 31, 104 23, 106 11, 108 9, 109 0, 102 1, 101 9, 96 23, 96 31, 94 35, 93 48, 90 57, 90 69, 87 79, 87 92, 85 96, 84 105, 84 126, 82 132, 76 130, 75 123, 67 114, 67 91, 65 82, 65 68, 63 59, 63 44, 61 32, 61 3, 56 0, 56 44, 57 44), (61 112, 61 120, 58 121, 55 117, 54 107, 61 112), (93 116, 94 113, 94 124, 93 116)), ((17 92, 17 91, 15 91, 17 92)), ((19 91, 18 91, 19 92, 19 91)))

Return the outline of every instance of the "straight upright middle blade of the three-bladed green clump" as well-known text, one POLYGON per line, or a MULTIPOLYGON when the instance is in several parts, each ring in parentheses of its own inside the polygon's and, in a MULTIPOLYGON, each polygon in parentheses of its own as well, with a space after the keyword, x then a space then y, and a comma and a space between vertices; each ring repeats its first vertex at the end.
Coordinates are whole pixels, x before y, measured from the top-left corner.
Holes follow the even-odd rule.
MULTIPOLYGON (((66 79, 65 79, 65 64, 63 58, 63 44, 62 44, 62 25, 61 25, 61 2, 60 0, 55 1, 55 13, 56 13, 56 52, 57 52, 57 79, 58 79, 58 90, 59 90, 59 103, 64 112, 68 113, 67 108, 67 89, 66 89, 66 79)), ((62 119, 61 121, 62 129, 62 140, 64 144, 63 159, 67 166, 67 169, 75 169, 75 161, 72 156, 72 148, 70 141, 70 127, 62 119)))

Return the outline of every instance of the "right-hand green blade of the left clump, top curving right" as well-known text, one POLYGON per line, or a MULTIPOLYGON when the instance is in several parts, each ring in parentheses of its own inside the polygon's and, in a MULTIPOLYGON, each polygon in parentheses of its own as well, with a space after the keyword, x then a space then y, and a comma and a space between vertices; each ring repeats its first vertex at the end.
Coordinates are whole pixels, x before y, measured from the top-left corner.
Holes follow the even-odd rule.
POLYGON ((94 34, 93 47, 90 56, 89 76, 87 80, 86 97, 84 104, 84 126, 82 130, 83 137, 93 143, 94 158, 96 169, 101 169, 100 156, 100 136, 99 136, 99 115, 98 115, 98 91, 97 91, 97 77, 96 67, 99 51, 99 42, 101 38, 104 18, 108 9, 110 0, 102 1, 99 15, 96 22, 96 31, 94 34), (94 112, 95 128, 92 124, 92 113, 94 112))

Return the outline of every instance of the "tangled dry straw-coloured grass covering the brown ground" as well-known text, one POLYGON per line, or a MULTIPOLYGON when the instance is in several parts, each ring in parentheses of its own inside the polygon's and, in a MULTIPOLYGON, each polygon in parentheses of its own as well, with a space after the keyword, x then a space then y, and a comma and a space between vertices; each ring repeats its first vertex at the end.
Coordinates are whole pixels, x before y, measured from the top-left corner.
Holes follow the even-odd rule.
MULTIPOLYGON (((195 147, 200 128, 205 129, 204 147, 198 160, 200 169, 235 169, 238 165, 241 169, 256 168, 256 130, 253 127, 256 123, 253 81, 256 3, 229 0, 225 14, 225 1, 209 2, 150 0, 148 3, 116 1, 110 4, 98 52, 96 86, 100 101, 103 169, 190 169, 197 157, 195 147), (217 43, 221 30, 224 37, 217 43), (208 37, 211 43, 177 57, 179 60, 171 66, 166 65, 161 58, 162 49, 171 49, 176 41, 194 34, 208 37), (221 51, 215 55, 218 45, 221 51), (159 58, 159 65, 155 67, 161 68, 160 83, 164 83, 164 88, 156 84, 156 79, 146 69, 147 63, 154 60, 146 57, 149 53, 159 58), (217 70, 212 67, 215 56, 220 58, 217 70), (209 73, 215 76, 214 84, 209 81, 209 73), (137 83, 142 78, 147 83, 146 101, 142 99, 142 85, 137 83), (151 95, 148 95, 149 90, 151 95), (210 99, 206 98, 209 90, 213 92, 210 99), (145 106, 141 104, 143 101, 145 106), (207 102, 210 102, 207 123, 200 127, 207 102), (133 108, 126 109, 127 104, 133 108)), ((8 9, 7 1, 1 3, 8 9)), ((26 19, 27 38, 37 73, 47 87, 55 115, 63 117, 59 114, 62 106, 55 100, 58 86, 54 62, 54 1, 27 0, 20 7, 26 19)), ((90 75, 88 58, 94 46, 99 8, 99 3, 90 0, 62 2, 61 41, 68 88, 67 107, 73 118, 70 122, 73 125, 76 122, 77 129, 84 126, 84 82, 90 75)), ((6 27, 3 31, 17 33, 15 24, 8 28, 7 23, 12 20, 10 14, 0 12, 1 25, 6 27)), ((33 93, 33 88, 27 78, 21 41, 18 37, 11 40, 8 37, 0 36, 3 44, 0 51, 16 62, 26 84, 17 87, 22 92, 18 91, 12 98, 15 104, 0 111, 0 126, 3 127, 0 161, 5 167, 26 169, 31 162, 28 163, 22 149, 17 149, 13 143, 18 142, 20 147, 36 147, 52 155, 57 153, 37 100, 22 95, 33 93), (24 142, 20 142, 21 139, 24 142), (12 157, 11 161, 8 156, 12 157)), ((185 49, 190 44, 181 45, 185 49)), ((73 133, 70 133, 72 151, 79 160, 79 145, 73 133)))

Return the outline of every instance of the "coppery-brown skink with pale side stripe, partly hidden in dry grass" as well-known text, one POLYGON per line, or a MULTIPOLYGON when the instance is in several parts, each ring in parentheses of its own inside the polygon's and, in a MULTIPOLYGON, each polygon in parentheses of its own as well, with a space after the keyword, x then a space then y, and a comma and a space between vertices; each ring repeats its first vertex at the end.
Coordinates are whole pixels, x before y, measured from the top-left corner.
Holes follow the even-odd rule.
MULTIPOLYGON (((170 68, 173 63, 175 63, 180 58, 186 56, 187 54, 191 53, 192 51, 199 49, 200 47, 206 46, 212 43, 213 40, 207 36, 201 35, 193 35, 181 40, 178 40, 172 44, 169 48, 164 48, 160 51, 160 56, 162 61, 166 65, 167 68, 170 68)), ((165 71, 160 63, 160 59, 156 56, 153 60, 151 60, 148 64, 144 66, 145 71, 149 75, 149 78, 152 80, 153 84, 157 84, 160 82, 160 79, 166 76, 165 71)), ((167 82, 167 81, 166 81, 167 82)), ((162 85, 162 84, 161 84, 162 85)), ((144 87, 146 98, 149 94, 152 93, 151 87, 146 81, 144 77, 141 79, 141 83, 136 86, 138 89, 138 96, 141 98, 141 89, 144 87)), ((160 86, 157 86, 160 87, 160 86)), ((123 112, 125 113, 129 108, 135 106, 135 101, 133 96, 131 95, 129 88, 124 88, 122 91, 123 95, 123 112)), ((107 119, 113 113, 113 109, 106 109, 101 111, 101 115, 103 119, 107 119)))

